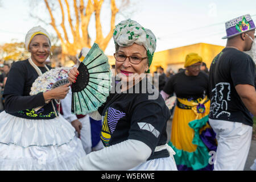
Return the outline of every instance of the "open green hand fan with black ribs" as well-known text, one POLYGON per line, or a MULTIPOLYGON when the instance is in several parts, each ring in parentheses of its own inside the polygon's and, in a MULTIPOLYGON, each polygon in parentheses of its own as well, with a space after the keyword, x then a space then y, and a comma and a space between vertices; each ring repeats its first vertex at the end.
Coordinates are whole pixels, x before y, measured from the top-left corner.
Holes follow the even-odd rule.
POLYGON ((108 57, 94 43, 85 59, 79 65, 79 76, 72 84, 73 114, 88 114, 96 111, 109 96, 111 71, 108 57))

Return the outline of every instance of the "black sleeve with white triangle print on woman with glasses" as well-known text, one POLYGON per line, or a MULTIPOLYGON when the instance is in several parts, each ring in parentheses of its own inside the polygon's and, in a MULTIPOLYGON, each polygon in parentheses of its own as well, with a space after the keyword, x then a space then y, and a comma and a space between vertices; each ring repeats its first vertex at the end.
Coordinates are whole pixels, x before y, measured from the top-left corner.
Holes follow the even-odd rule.
POLYGON ((160 105, 144 101, 135 106, 128 139, 139 140, 154 152, 167 121, 160 105))

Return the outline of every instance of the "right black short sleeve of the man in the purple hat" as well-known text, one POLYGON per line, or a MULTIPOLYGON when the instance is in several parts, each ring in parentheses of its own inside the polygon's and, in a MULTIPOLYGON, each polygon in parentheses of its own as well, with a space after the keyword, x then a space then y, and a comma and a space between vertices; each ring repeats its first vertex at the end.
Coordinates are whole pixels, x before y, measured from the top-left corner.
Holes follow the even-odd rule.
POLYGON ((230 75, 234 86, 238 84, 254 85, 255 64, 249 58, 232 59, 230 75))

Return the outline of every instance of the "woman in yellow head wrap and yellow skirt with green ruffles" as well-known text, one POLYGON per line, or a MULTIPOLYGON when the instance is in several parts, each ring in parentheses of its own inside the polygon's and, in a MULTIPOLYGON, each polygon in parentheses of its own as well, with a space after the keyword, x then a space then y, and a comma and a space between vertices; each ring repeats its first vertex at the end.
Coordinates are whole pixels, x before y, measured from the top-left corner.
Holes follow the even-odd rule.
POLYGON ((168 80, 161 92, 164 100, 175 93, 176 107, 172 119, 171 141, 179 170, 212 170, 209 151, 216 151, 215 134, 208 123, 209 76, 200 72, 202 57, 189 53, 185 71, 168 80))

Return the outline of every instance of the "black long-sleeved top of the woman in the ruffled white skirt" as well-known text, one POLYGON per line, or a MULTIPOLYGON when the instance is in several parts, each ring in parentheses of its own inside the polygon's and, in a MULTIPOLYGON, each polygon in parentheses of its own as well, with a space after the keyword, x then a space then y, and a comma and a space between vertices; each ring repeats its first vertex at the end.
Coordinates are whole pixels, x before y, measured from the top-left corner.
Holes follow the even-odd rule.
MULTIPOLYGON (((45 67, 39 67, 39 69, 42 73, 47 71, 45 67)), ((36 78, 38 73, 28 60, 17 61, 11 66, 3 92, 6 113, 27 119, 55 118, 52 104, 49 102, 46 105, 42 92, 30 96, 31 87, 36 78), (34 111, 33 108, 38 106, 44 107, 34 111)))

